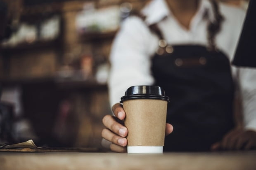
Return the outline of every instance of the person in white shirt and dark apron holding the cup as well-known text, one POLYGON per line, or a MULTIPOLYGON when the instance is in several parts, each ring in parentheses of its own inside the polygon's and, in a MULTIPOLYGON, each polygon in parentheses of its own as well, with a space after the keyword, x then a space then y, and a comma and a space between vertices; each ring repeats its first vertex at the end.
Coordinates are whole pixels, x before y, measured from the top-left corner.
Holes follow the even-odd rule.
POLYGON ((129 86, 152 84, 171 98, 164 151, 256 147, 256 70, 230 66, 244 10, 215 0, 152 0, 141 14, 124 21, 111 51, 114 116, 104 116, 102 130, 110 149, 126 151, 121 96, 129 86), (238 92, 242 128, 233 121, 238 92))

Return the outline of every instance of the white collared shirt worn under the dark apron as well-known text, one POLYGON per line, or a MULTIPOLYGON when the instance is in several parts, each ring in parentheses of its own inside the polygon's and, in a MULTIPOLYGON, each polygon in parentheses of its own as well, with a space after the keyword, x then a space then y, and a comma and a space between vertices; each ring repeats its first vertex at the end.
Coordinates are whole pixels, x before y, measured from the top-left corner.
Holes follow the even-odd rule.
MULTIPOLYGON (((216 46, 232 61, 245 11, 224 4, 220 4, 219 8, 225 20, 221 26, 221 31, 216 36, 216 46)), ((150 70, 151 57, 159 47, 159 38, 150 32, 147 25, 158 23, 158 27, 168 44, 207 46, 209 19, 204 19, 206 10, 209 19, 214 20, 211 3, 208 0, 201 0, 189 30, 181 26, 175 19, 165 0, 152 0, 142 10, 142 14, 146 16, 145 22, 135 16, 126 19, 116 35, 110 55, 110 104, 114 105, 119 102, 121 96, 130 86, 152 85, 154 83, 154 77, 152 77, 150 70), (165 16, 167 19, 162 20, 165 16)), ((237 69, 232 66, 232 72, 242 91, 245 128, 256 130, 256 70, 237 69), (239 77, 237 76, 238 73, 239 77)))

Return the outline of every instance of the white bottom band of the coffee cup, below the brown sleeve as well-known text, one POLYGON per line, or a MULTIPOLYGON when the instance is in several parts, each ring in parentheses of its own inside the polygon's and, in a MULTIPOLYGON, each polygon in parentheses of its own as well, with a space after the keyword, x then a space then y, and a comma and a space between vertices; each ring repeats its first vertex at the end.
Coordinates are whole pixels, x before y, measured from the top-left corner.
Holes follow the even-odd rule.
POLYGON ((162 154, 163 147, 155 146, 128 146, 128 154, 162 154))

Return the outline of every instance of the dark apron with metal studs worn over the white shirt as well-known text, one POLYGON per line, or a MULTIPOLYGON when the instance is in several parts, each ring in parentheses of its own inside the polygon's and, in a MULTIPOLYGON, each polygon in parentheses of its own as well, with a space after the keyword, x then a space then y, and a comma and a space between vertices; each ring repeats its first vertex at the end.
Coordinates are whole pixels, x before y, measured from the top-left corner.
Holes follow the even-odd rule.
MULTIPOLYGON (((161 35, 159 29, 156 34, 161 35)), ((230 61, 223 52, 201 45, 159 44, 152 75, 154 85, 163 87, 171 99, 167 123, 174 127, 164 151, 208 151, 234 127, 230 61)))

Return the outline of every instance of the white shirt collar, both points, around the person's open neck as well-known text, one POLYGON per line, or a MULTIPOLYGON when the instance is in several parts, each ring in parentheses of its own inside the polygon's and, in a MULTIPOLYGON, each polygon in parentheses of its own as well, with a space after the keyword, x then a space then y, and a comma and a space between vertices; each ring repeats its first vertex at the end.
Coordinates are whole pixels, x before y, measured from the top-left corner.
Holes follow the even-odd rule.
MULTIPOLYGON (((165 0, 152 0, 144 9, 142 14, 146 16, 145 22, 148 25, 159 23, 166 16, 173 17, 165 0)), ((196 16, 204 18, 207 14, 210 21, 214 21, 214 13, 209 0, 201 0, 196 16)))

